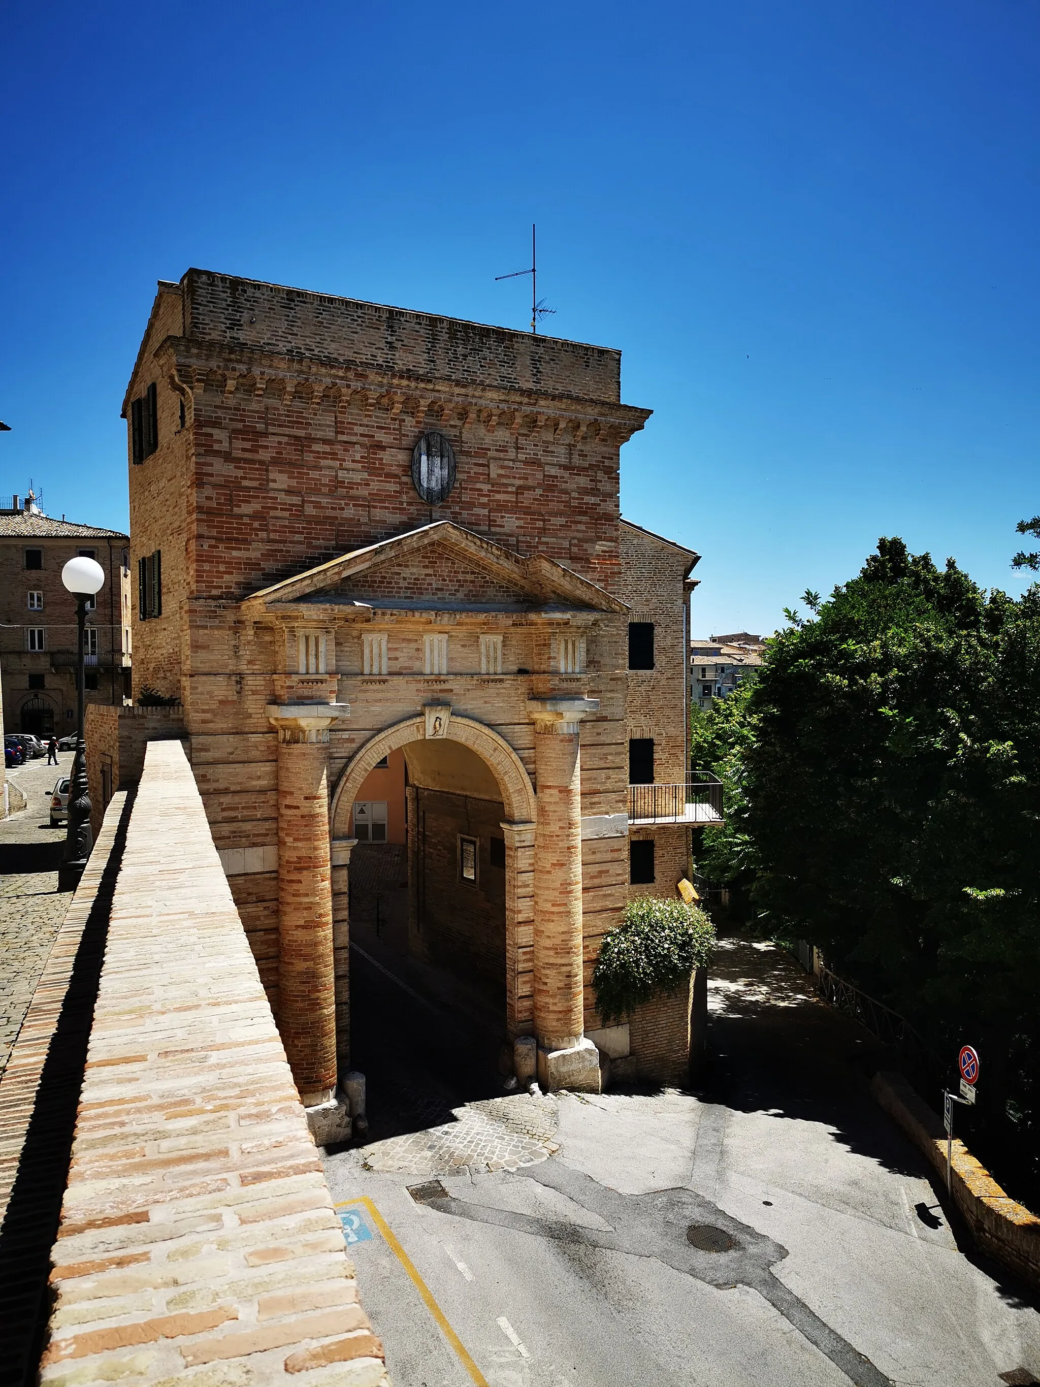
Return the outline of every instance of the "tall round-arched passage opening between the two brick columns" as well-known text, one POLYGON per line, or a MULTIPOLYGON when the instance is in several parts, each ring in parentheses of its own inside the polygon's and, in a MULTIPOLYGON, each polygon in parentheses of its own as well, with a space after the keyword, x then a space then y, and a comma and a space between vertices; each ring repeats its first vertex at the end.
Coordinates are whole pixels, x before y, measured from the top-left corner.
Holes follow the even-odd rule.
POLYGON ((373 1135, 501 1093, 517 1024, 530 1029, 517 1015, 530 778, 491 728, 451 718, 447 735, 426 731, 423 718, 373 738, 333 796, 337 989, 351 979, 341 1054, 367 1075, 373 1135))

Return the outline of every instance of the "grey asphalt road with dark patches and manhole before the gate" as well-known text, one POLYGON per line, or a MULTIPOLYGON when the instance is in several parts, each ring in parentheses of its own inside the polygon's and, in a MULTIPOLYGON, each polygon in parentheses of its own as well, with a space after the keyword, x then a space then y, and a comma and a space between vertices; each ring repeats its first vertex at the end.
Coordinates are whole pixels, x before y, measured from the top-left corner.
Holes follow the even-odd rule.
MULTIPOLYGON (((785 954, 721 950, 702 1090, 542 1099, 555 1154, 514 1171, 451 1165, 448 1137, 496 1104, 445 1121, 481 1082, 444 1074, 449 1018, 442 1029, 435 1006, 363 960, 359 989, 369 1046, 381 1032, 398 1079, 410 1056, 416 1092, 424 1074, 441 1085, 428 1142, 395 1146, 388 1112, 384 1140, 326 1161, 397 1387, 1040 1377, 1036 1309, 958 1248, 917 1153, 865 1092, 872 1042, 785 954), (417 1051, 420 1032, 444 1043, 417 1051), (402 1150, 413 1169, 388 1169, 402 1150)), ((398 1123, 419 1128, 404 1111, 398 1123)))

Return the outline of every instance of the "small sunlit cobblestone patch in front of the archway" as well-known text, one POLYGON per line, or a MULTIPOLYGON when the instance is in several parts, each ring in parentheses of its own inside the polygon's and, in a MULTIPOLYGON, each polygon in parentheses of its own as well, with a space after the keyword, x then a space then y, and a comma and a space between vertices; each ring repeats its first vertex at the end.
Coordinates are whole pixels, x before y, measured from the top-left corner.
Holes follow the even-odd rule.
POLYGON ((557 1100, 514 1093, 455 1108, 453 1122, 373 1142, 358 1155, 366 1171, 451 1175, 462 1169, 516 1171, 557 1150, 557 1100))

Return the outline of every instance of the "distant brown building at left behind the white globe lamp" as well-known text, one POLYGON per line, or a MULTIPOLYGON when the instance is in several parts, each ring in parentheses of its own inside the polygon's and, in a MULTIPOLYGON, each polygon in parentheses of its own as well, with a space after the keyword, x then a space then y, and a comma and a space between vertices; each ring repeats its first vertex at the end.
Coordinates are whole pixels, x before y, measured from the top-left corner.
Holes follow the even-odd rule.
POLYGON ((86 553, 105 584, 87 619, 87 703, 122 705, 130 691, 129 535, 55 520, 29 492, 0 508, 0 664, 8 732, 65 736, 76 728, 76 603, 64 565, 86 553))

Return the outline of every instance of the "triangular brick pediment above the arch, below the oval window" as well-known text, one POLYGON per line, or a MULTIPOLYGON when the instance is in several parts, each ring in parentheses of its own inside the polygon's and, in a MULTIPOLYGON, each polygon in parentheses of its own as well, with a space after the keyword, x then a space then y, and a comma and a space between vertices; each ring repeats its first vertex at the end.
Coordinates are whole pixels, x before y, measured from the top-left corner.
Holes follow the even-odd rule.
POLYGON ((521 558, 449 520, 355 549, 254 592, 243 605, 265 610, 300 605, 628 610, 563 565, 542 555, 521 558))

